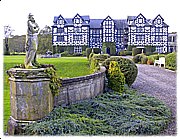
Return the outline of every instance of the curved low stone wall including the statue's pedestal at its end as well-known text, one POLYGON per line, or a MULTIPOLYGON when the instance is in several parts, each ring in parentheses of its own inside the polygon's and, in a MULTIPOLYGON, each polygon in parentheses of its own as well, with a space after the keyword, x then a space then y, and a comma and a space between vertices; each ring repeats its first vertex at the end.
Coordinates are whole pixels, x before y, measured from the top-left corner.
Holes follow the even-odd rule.
POLYGON ((63 79, 59 94, 53 97, 50 78, 44 68, 8 70, 11 101, 8 134, 23 133, 25 125, 45 117, 53 107, 77 103, 103 93, 105 71, 105 67, 101 67, 98 73, 63 79))

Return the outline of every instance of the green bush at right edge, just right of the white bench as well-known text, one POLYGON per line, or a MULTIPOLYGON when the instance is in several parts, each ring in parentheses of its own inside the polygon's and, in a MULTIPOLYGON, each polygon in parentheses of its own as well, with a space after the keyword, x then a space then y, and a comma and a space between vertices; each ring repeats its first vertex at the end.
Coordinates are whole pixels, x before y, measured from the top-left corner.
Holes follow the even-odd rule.
POLYGON ((176 62, 176 52, 168 54, 166 57, 166 68, 170 70, 177 69, 177 62, 176 62))

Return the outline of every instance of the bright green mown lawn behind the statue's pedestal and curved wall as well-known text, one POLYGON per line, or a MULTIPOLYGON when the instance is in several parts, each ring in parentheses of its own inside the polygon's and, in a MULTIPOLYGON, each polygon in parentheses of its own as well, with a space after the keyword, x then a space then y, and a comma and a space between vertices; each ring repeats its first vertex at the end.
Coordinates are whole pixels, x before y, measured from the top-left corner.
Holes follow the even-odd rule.
MULTIPOLYGON (((10 68, 23 64, 25 56, 4 57, 4 131, 10 116, 10 89, 6 71, 10 68)), ((62 57, 38 59, 41 64, 54 64, 59 77, 77 77, 90 74, 88 60, 84 57, 62 57)))

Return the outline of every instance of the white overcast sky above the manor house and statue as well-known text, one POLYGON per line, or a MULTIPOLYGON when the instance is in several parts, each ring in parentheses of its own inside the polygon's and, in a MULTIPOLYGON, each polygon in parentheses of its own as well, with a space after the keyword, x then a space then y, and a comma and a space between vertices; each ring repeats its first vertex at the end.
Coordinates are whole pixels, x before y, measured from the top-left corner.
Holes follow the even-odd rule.
POLYGON ((10 25, 14 35, 26 34, 27 16, 34 14, 40 28, 53 24, 54 16, 73 18, 77 13, 89 15, 90 18, 126 19, 127 16, 137 16, 142 13, 148 19, 154 19, 160 14, 169 27, 169 31, 177 31, 178 0, 1 0, 0 21, 10 25))

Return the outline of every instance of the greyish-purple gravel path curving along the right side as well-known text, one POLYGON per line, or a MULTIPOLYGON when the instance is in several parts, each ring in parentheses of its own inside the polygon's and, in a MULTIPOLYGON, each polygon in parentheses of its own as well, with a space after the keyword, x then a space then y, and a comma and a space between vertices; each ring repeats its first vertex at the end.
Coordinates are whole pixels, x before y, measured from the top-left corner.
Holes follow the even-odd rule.
POLYGON ((160 135, 177 135, 176 72, 152 65, 137 64, 138 76, 132 88, 162 100, 172 111, 172 122, 160 135))

